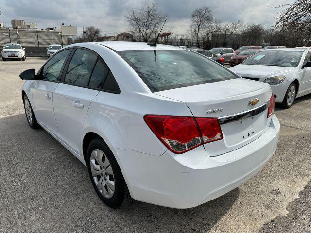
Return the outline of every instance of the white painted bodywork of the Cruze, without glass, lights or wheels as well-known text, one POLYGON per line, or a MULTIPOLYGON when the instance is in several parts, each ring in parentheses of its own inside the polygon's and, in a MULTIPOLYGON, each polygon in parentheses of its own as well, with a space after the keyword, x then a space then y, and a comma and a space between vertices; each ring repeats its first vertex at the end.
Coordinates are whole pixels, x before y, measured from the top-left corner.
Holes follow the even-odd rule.
POLYGON ((45 81, 47 89, 40 80, 26 81, 23 91, 38 123, 84 165, 85 135, 96 133, 102 137, 121 168, 132 198, 173 208, 194 207, 246 182, 275 152, 279 122, 275 115, 267 118, 267 109, 255 119, 241 120, 244 128, 237 125, 240 121, 222 124, 224 140, 182 154, 168 150, 143 120, 146 114, 224 117, 253 110, 256 106, 248 105, 252 98, 259 98, 257 106, 269 101, 272 91, 268 84, 237 78, 152 93, 114 50, 184 49, 130 42, 80 43, 66 48, 74 46, 96 51, 104 59, 120 94, 45 81), (51 92, 49 102, 45 94, 51 92), (83 108, 72 105, 76 100, 83 108), (224 111, 207 115, 208 109, 217 106, 224 111), (47 124, 47 119, 52 123, 47 124), (258 132, 242 139, 256 127, 258 132))

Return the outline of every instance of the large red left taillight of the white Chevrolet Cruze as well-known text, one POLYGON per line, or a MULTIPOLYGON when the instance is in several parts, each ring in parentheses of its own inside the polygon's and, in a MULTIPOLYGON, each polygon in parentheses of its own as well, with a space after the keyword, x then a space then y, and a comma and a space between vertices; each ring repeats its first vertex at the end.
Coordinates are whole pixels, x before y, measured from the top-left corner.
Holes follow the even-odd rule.
POLYGON ((160 141, 177 154, 223 138, 217 118, 145 115, 144 120, 160 141))

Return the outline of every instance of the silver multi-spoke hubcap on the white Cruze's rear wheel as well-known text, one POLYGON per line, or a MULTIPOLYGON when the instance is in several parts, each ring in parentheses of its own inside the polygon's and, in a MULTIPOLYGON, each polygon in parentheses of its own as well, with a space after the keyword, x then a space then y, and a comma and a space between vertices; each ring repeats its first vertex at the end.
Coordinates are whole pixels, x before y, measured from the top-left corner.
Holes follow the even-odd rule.
POLYGON ((115 176, 110 162, 102 150, 92 151, 90 166, 97 189, 105 198, 112 198, 115 192, 115 176))

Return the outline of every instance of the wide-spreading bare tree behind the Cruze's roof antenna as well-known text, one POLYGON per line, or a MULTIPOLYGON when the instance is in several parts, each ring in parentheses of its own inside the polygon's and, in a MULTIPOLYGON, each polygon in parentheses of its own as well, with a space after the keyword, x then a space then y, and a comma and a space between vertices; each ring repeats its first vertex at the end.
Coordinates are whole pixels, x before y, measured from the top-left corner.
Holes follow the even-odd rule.
POLYGON ((130 9, 125 16, 136 40, 144 42, 155 37, 155 33, 160 29, 166 17, 160 11, 158 3, 149 0, 145 1, 140 8, 130 9))

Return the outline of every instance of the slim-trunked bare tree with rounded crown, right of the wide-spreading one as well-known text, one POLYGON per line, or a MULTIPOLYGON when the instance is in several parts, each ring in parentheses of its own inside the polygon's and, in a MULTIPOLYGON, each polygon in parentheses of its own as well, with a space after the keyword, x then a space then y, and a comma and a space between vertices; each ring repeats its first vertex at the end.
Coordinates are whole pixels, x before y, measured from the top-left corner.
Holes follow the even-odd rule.
POLYGON ((208 6, 196 8, 191 14, 191 26, 196 33, 196 41, 200 48, 200 33, 213 21, 212 10, 208 6))

